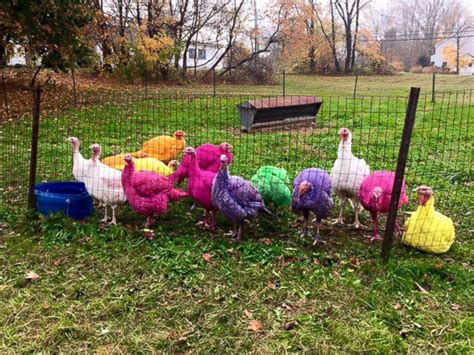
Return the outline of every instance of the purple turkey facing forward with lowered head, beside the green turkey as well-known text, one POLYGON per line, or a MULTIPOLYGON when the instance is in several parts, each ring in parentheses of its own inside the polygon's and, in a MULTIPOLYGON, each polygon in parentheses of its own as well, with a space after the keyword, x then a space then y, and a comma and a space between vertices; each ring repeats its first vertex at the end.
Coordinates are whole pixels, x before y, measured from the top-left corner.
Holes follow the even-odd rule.
POLYGON ((320 240, 319 226, 323 219, 329 217, 333 206, 331 199, 331 177, 318 168, 305 169, 298 174, 293 182, 293 196, 291 209, 293 212, 303 213, 303 235, 308 235, 309 213, 316 216, 316 235, 314 244, 320 240))

